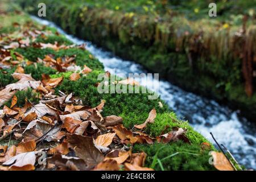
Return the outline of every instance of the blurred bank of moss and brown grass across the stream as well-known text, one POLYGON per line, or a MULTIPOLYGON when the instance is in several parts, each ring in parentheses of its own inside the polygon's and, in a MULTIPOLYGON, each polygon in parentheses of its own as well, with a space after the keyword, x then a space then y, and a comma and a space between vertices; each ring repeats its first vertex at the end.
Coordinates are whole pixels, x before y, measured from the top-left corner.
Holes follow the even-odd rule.
MULTIPOLYGON (((29 13, 37 14, 35 1, 19 2, 29 13)), ((242 15, 225 24, 223 18, 189 21, 175 13, 158 19, 154 13, 123 12, 91 1, 79 2, 45 0, 51 5, 46 18, 71 34, 160 73, 185 90, 214 98, 256 120, 256 94, 250 93, 255 85, 255 65, 247 68, 242 59, 245 47, 251 60, 255 58, 253 15, 242 34, 242 15)))

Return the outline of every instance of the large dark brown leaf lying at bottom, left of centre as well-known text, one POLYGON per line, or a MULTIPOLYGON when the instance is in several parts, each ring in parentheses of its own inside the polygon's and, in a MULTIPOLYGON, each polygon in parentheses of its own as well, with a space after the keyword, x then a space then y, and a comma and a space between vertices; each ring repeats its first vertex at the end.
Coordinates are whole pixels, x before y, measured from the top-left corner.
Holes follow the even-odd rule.
POLYGON ((67 141, 76 152, 76 156, 84 159, 90 168, 94 168, 104 160, 104 155, 94 146, 92 137, 73 134, 67 135, 67 141))

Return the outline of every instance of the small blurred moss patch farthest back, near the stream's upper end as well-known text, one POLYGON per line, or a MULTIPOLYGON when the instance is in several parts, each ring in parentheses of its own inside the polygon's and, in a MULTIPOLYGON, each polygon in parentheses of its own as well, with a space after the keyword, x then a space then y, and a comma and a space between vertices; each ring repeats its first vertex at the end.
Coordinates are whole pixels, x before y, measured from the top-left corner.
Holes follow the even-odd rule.
POLYGON ((65 38, 65 36, 63 35, 50 35, 47 36, 46 38, 43 38, 42 36, 38 36, 38 38, 36 38, 36 41, 38 43, 50 43, 50 44, 55 44, 55 42, 57 42, 58 44, 62 45, 71 45, 73 44, 70 40, 68 40, 67 38, 65 38))

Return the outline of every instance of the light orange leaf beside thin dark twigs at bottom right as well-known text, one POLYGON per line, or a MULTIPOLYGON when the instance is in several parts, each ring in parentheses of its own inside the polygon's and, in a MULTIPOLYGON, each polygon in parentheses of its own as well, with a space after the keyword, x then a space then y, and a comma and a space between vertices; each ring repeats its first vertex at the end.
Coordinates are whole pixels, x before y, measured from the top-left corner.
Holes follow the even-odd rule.
POLYGON ((234 171, 234 168, 222 152, 212 151, 211 154, 213 156, 213 166, 218 171, 234 171))

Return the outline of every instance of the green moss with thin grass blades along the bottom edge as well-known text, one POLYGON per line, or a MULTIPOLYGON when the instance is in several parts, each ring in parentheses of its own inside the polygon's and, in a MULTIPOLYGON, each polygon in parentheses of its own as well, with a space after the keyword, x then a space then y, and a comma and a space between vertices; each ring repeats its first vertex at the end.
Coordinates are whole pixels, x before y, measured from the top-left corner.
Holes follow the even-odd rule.
POLYGON ((214 170, 209 164, 209 150, 201 150, 200 145, 197 144, 189 145, 183 142, 136 144, 133 151, 146 152, 146 166, 156 170, 214 170))

